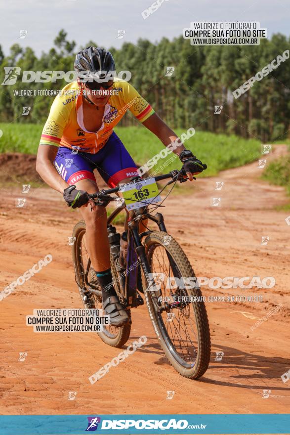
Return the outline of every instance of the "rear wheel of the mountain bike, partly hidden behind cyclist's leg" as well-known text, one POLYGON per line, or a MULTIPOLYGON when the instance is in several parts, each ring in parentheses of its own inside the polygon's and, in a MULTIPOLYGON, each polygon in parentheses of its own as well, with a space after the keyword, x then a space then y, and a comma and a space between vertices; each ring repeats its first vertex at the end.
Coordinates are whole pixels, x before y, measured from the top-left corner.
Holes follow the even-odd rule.
MULTIPOLYGON (((73 230, 73 237, 76 237, 75 243, 72 246, 72 256, 76 271, 76 282, 79 287, 79 292, 86 308, 97 308, 102 309, 102 297, 97 296, 90 292, 90 289, 98 290, 101 292, 101 287, 98 283, 97 277, 93 268, 90 266, 89 255, 85 244, 85 222, 83 220, 79 221, 73 230), (84 293, 87 292, 89 295, 89 303, 84 302, 84 293)), ((115 290, 122 300, 123 296, 120 293, 119 279, 113 258, 111 256, 111 270, 114 280, 115 290)), ((127 310, 127 314, 130 316, 130 310, 127 310)), ((109 346, 115 348, 122 348, 127 342, 131 331, 131 324, 128 323, 124 326, 103 326, 102 332, 97 332, 100 338, 109 346)))

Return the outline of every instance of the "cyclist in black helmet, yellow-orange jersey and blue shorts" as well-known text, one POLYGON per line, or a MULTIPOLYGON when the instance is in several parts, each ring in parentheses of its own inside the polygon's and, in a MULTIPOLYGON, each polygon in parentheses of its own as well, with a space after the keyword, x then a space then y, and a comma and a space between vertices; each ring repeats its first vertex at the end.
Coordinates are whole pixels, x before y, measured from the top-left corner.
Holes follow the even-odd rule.
POLYGON ((116 74, 112 78, 115 63, 110 51, 87 47, 77 54, 74 68, 78 79, 56 96, 44 125, 37 172, 63 194, 68 206, 80 208, 86 224, 87 251, 102 288, 104 312, 112 325, 121 326, 128 321, 128 315, 112 285, 106 210, 87 197, 99 191, 94 169, 110 187, 138 175, 114 127, 129 109, 165 146, 178 140, 180 146, 174 152, 190 180, 192 174, 203 171, 203 166, 134 87, 117 79, 116 74), (88 203, 91 207, 86 207, 88 203))

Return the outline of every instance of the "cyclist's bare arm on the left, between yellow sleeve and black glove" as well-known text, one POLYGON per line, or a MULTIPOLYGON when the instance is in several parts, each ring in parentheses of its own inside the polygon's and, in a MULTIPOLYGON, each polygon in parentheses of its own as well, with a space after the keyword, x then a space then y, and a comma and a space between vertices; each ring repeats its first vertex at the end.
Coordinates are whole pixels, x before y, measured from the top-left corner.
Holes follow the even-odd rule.
POLYGON ((54 190, 63 193, 64 189, 69 185, 53 166, 57 150, 57 146, 54 145, 40 145, 37 153, 36 170, 45 183, 54 190))

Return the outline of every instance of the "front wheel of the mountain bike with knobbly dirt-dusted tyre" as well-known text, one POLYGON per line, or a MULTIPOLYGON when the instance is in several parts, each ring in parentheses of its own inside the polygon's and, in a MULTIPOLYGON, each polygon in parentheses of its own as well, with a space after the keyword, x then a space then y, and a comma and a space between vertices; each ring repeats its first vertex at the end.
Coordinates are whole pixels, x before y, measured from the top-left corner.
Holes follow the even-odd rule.
MULTIPOLYGON (((178 373, 198 379, 206 372, 210 359, 209 325, 201 290, 182 284, 168 289, 167 285, 168 278, 171 283, 175 281, 173 277, 182 283, 181 278, 195 277, 194 271, 179 244, 166 232, 152 232, 144 245, 150 265, 147 272, 159 276, 160 290, 144 293, 161 347, 178 373)), ((149 283, 144 273, 142 279, 147 289, 149 283)))

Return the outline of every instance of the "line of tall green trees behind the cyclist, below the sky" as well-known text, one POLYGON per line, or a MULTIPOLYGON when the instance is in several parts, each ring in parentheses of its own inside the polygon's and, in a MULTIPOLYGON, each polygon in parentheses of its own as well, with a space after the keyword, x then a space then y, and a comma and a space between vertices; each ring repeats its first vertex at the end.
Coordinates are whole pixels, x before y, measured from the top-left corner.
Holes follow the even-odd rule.
MULTIPOLYGON (((3 67, 18 66, 22 71, 71 71, 76 53, 75 41, 68 41, 61 30, 54 46, 37 57, 31 47, 13 44, 5 56, 0 47, 0 83, 3 67)), ((108 48, 117 73, 128 70, 130 83, 153 106, 171 128, 235 133, 266 142, 288 137, 290 124, 290 60, 285 60, 266 77, 256 81, 239 98, 233 91, 254 77, 278 55, 290 47, 282 34, 261 40, 256 46, 193 46, 182 36, 153 44, 140 39, 124 43, 120 49, 108 48), (171 68, 174 68, 171 69, 171 68), (215 109, 215 106, 223 106, 215 109), (214 115, 214 111, 216 114, 214 115), (220 112, 220 113, 219 113, 220 112), (218 114, 219 113, 219 114, 218 114)), ((89 41, 85 46, 98 46, 89 41)), ((21 83, 0 87, 0 121, 43 123, 53 96, 14 96, 16 89, 61 89, 56 83, 21 83), (22 107, 30 106, 29 116, 22 107)), ((124 116, 121 125, 135 125, 132 116, 124 116)))

